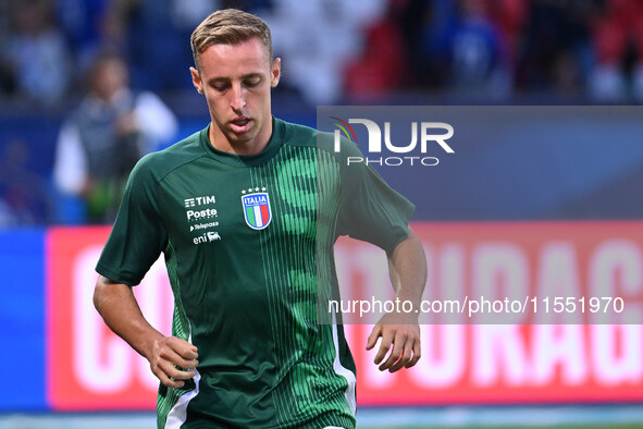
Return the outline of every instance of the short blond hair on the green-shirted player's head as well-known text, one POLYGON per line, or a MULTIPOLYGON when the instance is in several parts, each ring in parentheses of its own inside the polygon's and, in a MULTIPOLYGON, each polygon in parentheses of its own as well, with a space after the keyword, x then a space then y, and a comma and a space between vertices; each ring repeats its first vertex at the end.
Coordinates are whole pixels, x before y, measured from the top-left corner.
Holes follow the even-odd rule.
POLYGON ((268 59, 272 61, 272 38, 263 20, 238 9, 222 9, 210 14, 189 39, 196 68, 199 69, 199 57, 206 48, 218 44, 236 45, 254 37, 265 46, 268 59))

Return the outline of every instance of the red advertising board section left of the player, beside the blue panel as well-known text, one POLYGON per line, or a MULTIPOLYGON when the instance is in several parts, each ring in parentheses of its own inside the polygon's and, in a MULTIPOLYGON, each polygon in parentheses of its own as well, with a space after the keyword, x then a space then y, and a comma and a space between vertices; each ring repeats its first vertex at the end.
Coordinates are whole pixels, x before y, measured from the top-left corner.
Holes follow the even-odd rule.
MULTIPOLYGON (((150 409, 158 380, 147 360, 94 308, 94 270, 108 228, 54 228, 47 236, 47 395, 55 410, 150 409)), ((169 333, 172 297, 160 261, 135 295, 148 321, 169 333)))

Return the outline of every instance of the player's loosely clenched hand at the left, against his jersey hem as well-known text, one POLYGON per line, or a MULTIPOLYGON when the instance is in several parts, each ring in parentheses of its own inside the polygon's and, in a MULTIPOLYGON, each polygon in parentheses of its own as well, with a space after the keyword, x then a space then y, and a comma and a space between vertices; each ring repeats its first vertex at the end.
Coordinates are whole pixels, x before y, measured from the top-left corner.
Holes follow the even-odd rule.
POLYGON ((197 347, 176 336, 161 336, 152 344, 148 358, 150 368, 168 388, 183 388, 185 381, 196 375, 197 347), (183 368, 177 369, 176 367, 183 368))

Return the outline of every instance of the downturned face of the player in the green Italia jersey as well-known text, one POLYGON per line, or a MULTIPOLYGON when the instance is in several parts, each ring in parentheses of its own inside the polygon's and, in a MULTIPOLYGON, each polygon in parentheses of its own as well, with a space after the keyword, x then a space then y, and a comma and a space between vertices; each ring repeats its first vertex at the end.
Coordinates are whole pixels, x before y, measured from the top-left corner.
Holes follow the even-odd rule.
POLYGON ((237 45, 212 45, 190 68, 193 84, 206 96, 215 148, 239 155, 261 151, 272 134, 270 88, 280 77, 280 60, 270 62, 259 38, 237 45))

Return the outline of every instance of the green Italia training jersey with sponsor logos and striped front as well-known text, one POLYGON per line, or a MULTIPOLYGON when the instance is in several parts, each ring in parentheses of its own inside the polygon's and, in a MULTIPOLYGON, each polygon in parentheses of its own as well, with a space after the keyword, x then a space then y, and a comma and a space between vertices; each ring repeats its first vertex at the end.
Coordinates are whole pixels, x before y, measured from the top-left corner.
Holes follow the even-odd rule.
POLYGON ((349 156, 273 119, 261 154, 217 150, 206 128, 135 167, 97 271, 136 285, 164 254, 172 334, 199 366, 160 387, 159 428, 355 427, 355 363, 335 316, 318 321, 318 287, 336 287, 337 236, 391 253, 413 206, 349 156))

